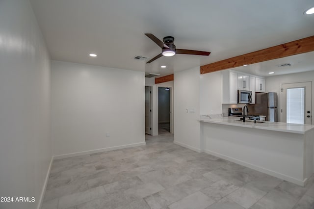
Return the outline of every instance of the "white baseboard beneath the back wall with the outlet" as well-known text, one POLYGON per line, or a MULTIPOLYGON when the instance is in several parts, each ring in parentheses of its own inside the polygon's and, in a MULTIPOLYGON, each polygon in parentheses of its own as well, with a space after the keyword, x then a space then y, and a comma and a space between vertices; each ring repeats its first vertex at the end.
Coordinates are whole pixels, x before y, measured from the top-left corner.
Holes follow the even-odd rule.
POLYGON ((142 145, 146 145, 146 142, 127 144, 127 145, 115 146, 115 147, 107 147, 107 148, 102 148, 102 149, 97 149, 97 150, 89 150, 89 151, 70 153, 70 154, 64 154, 64 155, 57 155, 57 156, 53 156, 53 159, 77 157, 77 156, 89 155, 89 154, 94 154, 94 153, 102 153, 102 152, 111 151, 111 150, 119 150, 119 149, 124 149, 124 148, 129 148, 129 147, 137 147, 137 146, 142 146, 142 145))

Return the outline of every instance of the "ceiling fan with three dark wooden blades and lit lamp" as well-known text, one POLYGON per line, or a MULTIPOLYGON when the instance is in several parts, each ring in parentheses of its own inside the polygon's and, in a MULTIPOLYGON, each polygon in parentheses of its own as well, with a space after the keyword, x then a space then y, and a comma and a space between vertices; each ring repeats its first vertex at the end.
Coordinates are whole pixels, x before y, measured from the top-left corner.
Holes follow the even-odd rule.
POLYGON ((210 54, 210 52, 176 49, 176 45, 174 45, 174 43, 173 43, 175 38, 172 36, 164 37, 163 42, 162 42, 156 36, 154 36, 152 33, 145 33, 145 35, 147 37, 149 37, 152 41, 154 41, 161 48, 161 53, 159 53, 157 56, 155 56, 153 59, 149 60, 146 63, 151 63, 161 56, 173 56, 176 53, 177 54, 204 55, 204 56, 208 56, 210 54))

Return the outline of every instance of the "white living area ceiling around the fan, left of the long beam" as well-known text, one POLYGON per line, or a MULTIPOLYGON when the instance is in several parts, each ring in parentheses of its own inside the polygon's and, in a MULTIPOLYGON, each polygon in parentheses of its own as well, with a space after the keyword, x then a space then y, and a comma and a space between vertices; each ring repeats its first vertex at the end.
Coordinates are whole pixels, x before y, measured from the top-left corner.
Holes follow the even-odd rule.
POLYGON ((30 1, 53 60, 161 75, 314 35, 314 15, 303 14, 313 0, 30 1), (161 49, 144 33, 174 36, 178 49, 211 54, 145 64, 133 57, 153 58, 161 49))

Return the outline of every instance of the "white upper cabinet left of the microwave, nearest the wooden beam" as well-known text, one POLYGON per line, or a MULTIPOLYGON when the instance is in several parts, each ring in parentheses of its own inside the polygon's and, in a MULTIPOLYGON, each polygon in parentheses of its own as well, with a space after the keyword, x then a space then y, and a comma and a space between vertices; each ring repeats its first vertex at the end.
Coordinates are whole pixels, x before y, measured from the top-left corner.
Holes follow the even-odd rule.
POLYGON ((237 73, 222 72, 222 104, 237 104, 237 73))

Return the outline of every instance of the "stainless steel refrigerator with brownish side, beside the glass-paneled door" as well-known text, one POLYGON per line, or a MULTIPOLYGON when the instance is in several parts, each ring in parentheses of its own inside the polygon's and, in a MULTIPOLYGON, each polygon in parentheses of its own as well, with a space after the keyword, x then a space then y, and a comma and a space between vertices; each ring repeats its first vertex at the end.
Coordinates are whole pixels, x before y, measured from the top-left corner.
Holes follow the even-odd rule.
POLYGON ((250 115, 266 115, 266 121, 277 121, 277 93, 256 93, 255 104, 248 104, 250 115))

